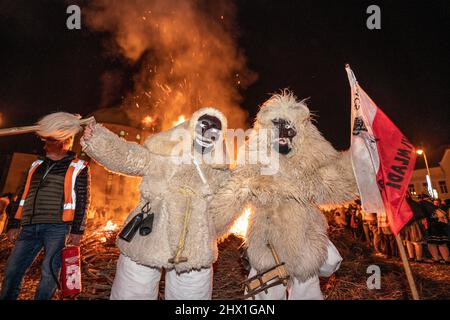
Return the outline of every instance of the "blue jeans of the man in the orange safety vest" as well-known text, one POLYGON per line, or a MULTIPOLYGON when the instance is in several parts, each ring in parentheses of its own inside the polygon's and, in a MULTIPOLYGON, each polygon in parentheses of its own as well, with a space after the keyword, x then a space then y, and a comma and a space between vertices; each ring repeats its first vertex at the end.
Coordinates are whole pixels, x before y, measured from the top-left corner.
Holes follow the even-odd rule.
POLYGON ((6 263, 0 300, 17 299, 23 277, 42 249, 44 260, 41 264, 41 280, 34 298, 52 298, 57 286, 52 272, 56 276, 59 274, 61 250, 69 230, 70 226, 66 224, 34 224, 22 228, 6 263))

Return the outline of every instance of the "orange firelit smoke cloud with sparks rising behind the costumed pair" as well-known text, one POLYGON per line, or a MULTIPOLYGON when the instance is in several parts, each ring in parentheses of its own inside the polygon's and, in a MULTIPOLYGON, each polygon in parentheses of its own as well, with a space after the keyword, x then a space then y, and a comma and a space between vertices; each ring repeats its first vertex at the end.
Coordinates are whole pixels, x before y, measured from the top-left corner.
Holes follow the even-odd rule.
POLYGON ((111 34, 109 53, 138 70, 122 103, 134 121, 151 116, 164 130, 182 115, 213 106, 230 127, 245 126, 239 90, 256 74, 237 46, 230 1, 95 0, 83 13, 91 29, 111 34))

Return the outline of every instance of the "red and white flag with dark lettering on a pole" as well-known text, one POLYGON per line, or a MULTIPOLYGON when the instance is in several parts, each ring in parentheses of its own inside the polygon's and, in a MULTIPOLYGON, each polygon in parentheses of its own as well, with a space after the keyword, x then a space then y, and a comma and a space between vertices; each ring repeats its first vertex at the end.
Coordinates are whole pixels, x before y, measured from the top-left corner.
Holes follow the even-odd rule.
MULTIPOLYGON (((412 218, 405 193, 416 162, 414 146, 359 86, 346 66, 352 93, 351 157, 366 212, 387 216, 394 234, 412 218)), ((381 219, 380 219, 381 218, 381 219)))

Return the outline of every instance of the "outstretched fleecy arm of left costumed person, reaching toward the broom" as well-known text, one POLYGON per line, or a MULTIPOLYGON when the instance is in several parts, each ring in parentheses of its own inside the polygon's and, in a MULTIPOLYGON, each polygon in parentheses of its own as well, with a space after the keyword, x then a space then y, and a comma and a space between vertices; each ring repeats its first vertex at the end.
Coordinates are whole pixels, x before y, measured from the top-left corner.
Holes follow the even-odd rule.
POLYGON ((151 161, 144 146, 128 142, 100 124, 89 125, 80 143, 87 155, 116 173, 143 176, 151 161))

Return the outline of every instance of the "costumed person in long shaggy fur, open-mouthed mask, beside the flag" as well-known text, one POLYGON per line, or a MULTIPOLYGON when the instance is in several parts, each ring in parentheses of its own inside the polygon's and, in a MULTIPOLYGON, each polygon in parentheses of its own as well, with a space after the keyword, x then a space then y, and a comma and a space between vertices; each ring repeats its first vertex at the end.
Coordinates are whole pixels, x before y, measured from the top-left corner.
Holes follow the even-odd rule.
MULTIPOLYGON (((274 286, 256 299, 323 299, 319 276, 331 276, 342 258, 328 239, 319 205, 356 197, 350 154, 323 138, 308 107, 287 90, 262 105, 254 129, 250 139, 270 136, 261 141, 278 153, 278 170, 263 175, 260 164, 239 165, 214 194, 209 212, 219 236, 226 236, 245 206, 253 207, 246 238, 249 278, 275 266, 268 243, 285 263, 287 287, 274 286)), ((252 145, 246 144, 246 152, 252 145)))

